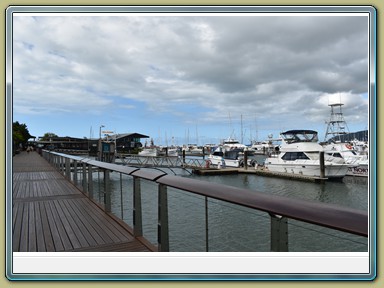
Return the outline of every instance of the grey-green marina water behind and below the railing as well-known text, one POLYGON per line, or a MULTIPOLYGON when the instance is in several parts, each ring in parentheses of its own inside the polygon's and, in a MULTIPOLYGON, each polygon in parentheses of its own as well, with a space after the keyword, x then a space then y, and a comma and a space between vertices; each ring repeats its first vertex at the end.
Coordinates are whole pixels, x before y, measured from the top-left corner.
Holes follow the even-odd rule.
MULTIPOLYGON (((368 210, 367 177, 346 176, 341 182, 312 183, 253 174, 198 176, 181 168, 157 168, 171 175, 191 177, 270 195, 368 210)), ((249 168, 252 169, 252 168, 249 168)), ((98 172, 96 172, 97 174, 98 172)), ((133 227, 133 179, 111 173, 112 212, 133 227), (123 203, 123 204, 121 204, 123 203)), ((94 189, 102 202, 103 184, 94 175, 94 189), (99 187, 99 188, 98 188, 99 187)), ((157 244, 157 191, 154 182, 141 180, 143 234, 157 244)), ((208 227, 203 196, 168 187, 171 252, 270 252, 270 217, 267 213, 207 199, 208 227), (206 228, 208 244, 206 244, 206 228)), ((288 219, 290 252, 366 252, 368 239, 288 219)))

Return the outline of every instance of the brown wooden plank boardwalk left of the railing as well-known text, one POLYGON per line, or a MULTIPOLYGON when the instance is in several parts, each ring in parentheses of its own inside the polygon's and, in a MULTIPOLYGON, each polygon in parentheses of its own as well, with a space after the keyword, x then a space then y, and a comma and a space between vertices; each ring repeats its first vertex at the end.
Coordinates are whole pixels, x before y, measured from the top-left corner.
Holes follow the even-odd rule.
POLYGON ((13 157, 12 208, 14 252, 153 251, 36 152, 13 157))

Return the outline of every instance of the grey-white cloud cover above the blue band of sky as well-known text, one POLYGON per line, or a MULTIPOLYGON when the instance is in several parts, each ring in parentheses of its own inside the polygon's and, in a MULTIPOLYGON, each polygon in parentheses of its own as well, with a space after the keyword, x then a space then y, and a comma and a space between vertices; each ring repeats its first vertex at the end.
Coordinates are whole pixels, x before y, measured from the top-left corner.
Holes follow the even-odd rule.
POLYGON ((198 104, 207 122, 229 111, 315 122, 342 93, 352 121, 367 121, 366 17, 15 17, 13 40, 23 113, 128 99, 158 113, 198 104))

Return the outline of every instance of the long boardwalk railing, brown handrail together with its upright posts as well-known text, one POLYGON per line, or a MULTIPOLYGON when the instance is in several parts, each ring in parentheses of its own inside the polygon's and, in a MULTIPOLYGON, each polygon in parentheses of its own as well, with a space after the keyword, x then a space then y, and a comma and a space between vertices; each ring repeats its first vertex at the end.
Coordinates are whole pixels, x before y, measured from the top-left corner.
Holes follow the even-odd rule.
MULTIPOLYGON (((368 213, 331 204, 274 196, 266 193, 230 187, 191 178, 168 175, 160 170, 140 169, 91 160, 43 150, 42 155, 84 194, 94 200, 93 174, 103 176, 104 210, 111 212, 110 173, 132 177, 133 234, 143 237, 141 183, 150 181, 157 186, 158 251, 169 251, 168 188, 175 188, 205 198, 206 251, 208 251, 207 199, 216 199, 267 213, 270 218, 270 251, 288 251, 288 219, 294 219, 338 231, 368 237, 368 213)), ((122 186, 121 186, 122 187, 122 186)), ((121 188, 122 189, 122 188, 121 188)), ((123 191, 121 191, 123 193, 123 191)), ((122 197, 122 196, 121 196, 122 197)), ((123 205, 121 203, 121 205, 123 205)), ((123 209, 123 208, 122 208, 123 209)))

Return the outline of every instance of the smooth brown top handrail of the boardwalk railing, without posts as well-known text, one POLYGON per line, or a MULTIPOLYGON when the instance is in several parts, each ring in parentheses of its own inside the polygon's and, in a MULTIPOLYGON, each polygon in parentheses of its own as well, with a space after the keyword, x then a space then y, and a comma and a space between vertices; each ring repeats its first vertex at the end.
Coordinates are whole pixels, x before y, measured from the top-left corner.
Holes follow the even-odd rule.
POLYGON ((122 166, 56 152, 50 152, 50 155, 57 155, 101 169, 150 180, 167 187, 263 211, 270 215, 287 217, 368 237, 368 213, 366 211, 168 175, 164 171, 155 169, 122 166))

